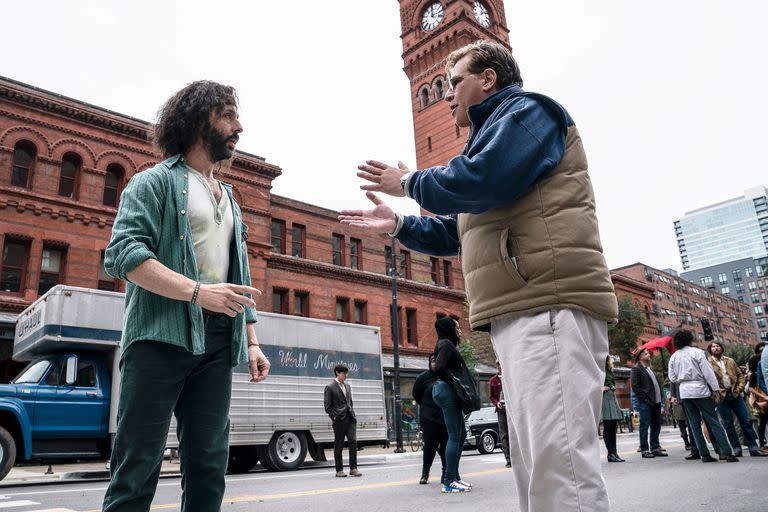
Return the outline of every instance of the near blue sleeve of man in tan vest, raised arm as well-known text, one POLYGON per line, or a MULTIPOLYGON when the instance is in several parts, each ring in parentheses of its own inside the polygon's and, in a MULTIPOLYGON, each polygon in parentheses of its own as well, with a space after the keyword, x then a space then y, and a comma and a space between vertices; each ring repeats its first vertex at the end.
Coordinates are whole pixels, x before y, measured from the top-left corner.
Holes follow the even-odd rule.
MULTIPOLYGON (((501 107, 503 108, 503 107, 501 107)), ((493 116, 493 114, 492 114, 493 116)), ((525 97, 472 141, 470 153, 447 166, 411 175, 408 195, 435 214, 482 213, 507 205, 551 171, 565 153, 567 117, 525 97), (472 153, 472 148, 479 151, 472 153)))

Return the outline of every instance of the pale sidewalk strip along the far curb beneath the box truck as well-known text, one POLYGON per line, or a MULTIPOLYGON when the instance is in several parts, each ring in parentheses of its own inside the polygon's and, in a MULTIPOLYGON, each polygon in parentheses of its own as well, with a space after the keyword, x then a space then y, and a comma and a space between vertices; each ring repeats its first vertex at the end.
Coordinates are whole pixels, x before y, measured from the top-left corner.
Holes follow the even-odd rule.
MULTIPOLYGON (((411 452, 406 446, 406 452, 394 453, 395 446, 391 445, 389 448, 382 448, 378 446, 366 446, 362 450, 358 451, 358 462, 361 466, 368 464, 384 464, 394 459, 404 457, 421 457, 421 452, 411 452)), ((333 450, 326 450, 325 456, 328 459, 324 462, 316 462, 307 455, 307 460, 302 467, 316 468, 316 467, 333 467, 333 450)), ((344 461, 347 462, 347 449, 344 449, 344 461)), ((257 469, 261 466, 257 465, 257 469)), ((39 485, 39 484, 52 484, 56 482, 87 482, 87 481, 104 481, 109 480, 109 471, 106 469, 106 462, 79 462, 71 464, 52 464, 52 474, 46 474, 48 471, 48 464, 44 465, 28 465, 28 466, 15 466, 11 469, 10 473, 0 481, 0 488, 11 487, 18 485, 39 485)), ((163 465, 160 468, 160 478, 163 477, 178 477, 179 473, 179 459, 175 458, 169 460, 165 458, 163 465)))

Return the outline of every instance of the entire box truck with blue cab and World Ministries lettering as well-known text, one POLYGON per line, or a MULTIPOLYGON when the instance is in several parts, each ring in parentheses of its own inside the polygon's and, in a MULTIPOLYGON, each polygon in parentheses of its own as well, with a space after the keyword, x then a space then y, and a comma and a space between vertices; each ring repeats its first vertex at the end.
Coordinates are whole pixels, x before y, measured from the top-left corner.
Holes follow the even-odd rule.
MULTIPOLYGON (((23 311, 14 359, 29 360, 0 385, 0 479, 16 461, 106 458, 116 431, 124 295, 58 285, 23 311)), ((296 469, 307 454, 325 460, 333 444, 323 390, 346 364, 358 445, 387 443, 379 328, 259 313, 256 331, 272 368, 249 382, 234 370, 230 407, 232 472, 296 469)), ((168 447, 178 446, 175 424, 168 447)))

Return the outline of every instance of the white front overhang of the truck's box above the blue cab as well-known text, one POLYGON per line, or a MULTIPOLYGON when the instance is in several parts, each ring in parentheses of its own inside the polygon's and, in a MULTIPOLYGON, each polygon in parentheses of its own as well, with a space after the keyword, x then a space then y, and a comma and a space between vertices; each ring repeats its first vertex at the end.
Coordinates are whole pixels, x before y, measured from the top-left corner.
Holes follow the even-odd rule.
POLYGON ((120 344, 125 295, 56 285, 16 320, 13 358, 80 350, 113 350, 120 344))

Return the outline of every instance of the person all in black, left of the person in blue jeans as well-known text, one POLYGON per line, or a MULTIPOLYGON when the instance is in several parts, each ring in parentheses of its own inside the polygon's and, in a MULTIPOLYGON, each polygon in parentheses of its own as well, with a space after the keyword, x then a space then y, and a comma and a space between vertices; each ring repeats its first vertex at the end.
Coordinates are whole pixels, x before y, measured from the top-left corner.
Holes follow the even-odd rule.
POLYGON ((443 410, 432 398, 432 388, 437 381, 435 367, 435 354, 432 353, 429 354, 429 369, 419 374, 413 384, 413 399, 419 404, 419 425, 424 442, 419 480, 419 484, 422 485, 429 482, 429 470, 436 453, 440 455, 442 465, 440 483, 445 483, 445 446, 448 443, 448 431, 445 429, 443 410))

